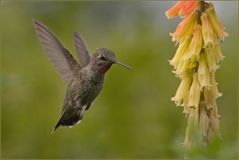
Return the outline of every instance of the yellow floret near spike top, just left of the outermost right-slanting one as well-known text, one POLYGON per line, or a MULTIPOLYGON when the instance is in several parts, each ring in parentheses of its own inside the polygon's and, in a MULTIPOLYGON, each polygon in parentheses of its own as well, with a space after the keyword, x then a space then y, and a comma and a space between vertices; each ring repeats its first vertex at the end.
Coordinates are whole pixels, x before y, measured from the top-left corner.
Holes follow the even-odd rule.
POLYGON ((206 13, 202 13, 201 21, 204 47, 213 47, 216 42, 214 42, 212 26, 206 13))

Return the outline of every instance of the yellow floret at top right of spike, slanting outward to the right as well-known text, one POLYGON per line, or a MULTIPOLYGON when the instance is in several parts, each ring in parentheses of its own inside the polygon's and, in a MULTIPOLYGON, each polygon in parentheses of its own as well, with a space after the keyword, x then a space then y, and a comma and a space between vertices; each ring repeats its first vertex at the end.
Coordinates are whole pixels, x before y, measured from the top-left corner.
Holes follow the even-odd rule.
POLYGON ((228 36, 228 33, 224 31, 224 28, 219 21, 219 18, 215 12, 215 9, 212 3, 209 3, 209 8, 206 10, 206 13, 209 17, 213 31, 216 33, 217 37, 220 40, 223 40, 226 36, 228 36))

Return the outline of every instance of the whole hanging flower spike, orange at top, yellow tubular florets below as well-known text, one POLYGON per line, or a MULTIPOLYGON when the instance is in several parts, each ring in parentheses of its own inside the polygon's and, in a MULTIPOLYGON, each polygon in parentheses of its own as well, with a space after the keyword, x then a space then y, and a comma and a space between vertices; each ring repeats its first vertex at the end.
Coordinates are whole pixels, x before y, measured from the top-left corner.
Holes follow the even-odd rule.
POLYGON ((219 62, 224 59, 220 41, 228 34, 213 4, 203 0, 178 1, 166 11, 166 16, 183 18, 171 34, 172 41, 179 46, 169 63, 181 79, 171 100, 182 106, 183 113, 187 115, 184 144, 189 147, 198 139, 207 144, 219 132, 216 99, 221 93, 215 73, 219 62))

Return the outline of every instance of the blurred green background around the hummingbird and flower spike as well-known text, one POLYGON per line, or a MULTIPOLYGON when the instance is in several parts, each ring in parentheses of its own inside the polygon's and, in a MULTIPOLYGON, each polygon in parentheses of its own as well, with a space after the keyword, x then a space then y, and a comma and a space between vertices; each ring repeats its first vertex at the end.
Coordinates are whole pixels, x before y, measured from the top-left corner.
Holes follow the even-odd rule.
MULTIPOLYGON (((179 18, 164 12, 174 3, 1 1, 1 153, 4 158, 183 158, 186 118, 175 107, 179 79, 168 60, 179 18), (133 72, 113 66, 101 94, 71 129, 51 130, 60 116, 66 85, 36 38, 32 19, 46 24, 75 56, 80 32, 90 51, 112 49, 133 72)), ((217 72, 223 140, 196 157, 238 154, 238 2, 216 1, 230 34, 217 72)), ((76 57, 76 56, 75 56, 76 57)))

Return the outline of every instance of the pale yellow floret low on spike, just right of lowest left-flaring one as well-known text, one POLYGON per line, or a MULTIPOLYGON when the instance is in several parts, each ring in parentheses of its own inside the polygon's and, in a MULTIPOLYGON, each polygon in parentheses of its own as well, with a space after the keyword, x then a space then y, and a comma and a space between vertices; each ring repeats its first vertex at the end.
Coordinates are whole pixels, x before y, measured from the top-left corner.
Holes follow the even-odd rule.
POLYGON ((197 73, 193 74, 193 82, 189 91, 189 101, 188 106, 198 108, 199 101, 201 97, 200 84, 198 81, 197 73))

